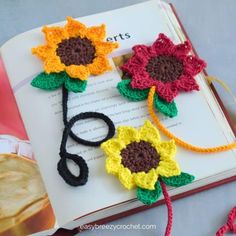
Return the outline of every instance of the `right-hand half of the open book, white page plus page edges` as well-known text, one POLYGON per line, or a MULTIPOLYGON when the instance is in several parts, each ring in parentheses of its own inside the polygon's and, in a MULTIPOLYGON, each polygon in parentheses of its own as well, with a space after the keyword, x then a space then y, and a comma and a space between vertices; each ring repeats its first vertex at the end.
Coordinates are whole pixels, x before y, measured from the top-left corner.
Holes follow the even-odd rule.
MULTIPOLYGON (((109 116, 116 127, 141 126, 145 120, 150 119, 145 102, 130 102, 121 97, 116 89, 117 83, 121 81, 117 68, 119 59, 130 54, 135 44, 151 44, 159 33, 166 34, 175 43, 186 40, 187 36, 172 7, 153 0, 82 17, 79 21, 88 26, 105 23, 107 40, 119 42, 120 47, 110 55, 113 65, 111 72, 96 78, 90 77, 85 93, 69 94, 68 116, 97 111, 109 116)), ((68 140, 68 151, 81 154, 89 166, 90 176, 85 186, 68 186, 58 174, 57 162, 60 159, 59 148, 64 127, 61 90, 49 93, 30 85, 32 79, 43 71, 41 62, 31 54, 31 48, 43 42, 41 28, 37 28, 16 36, 0 49, 55 214, 55 225, 43 234, 52 234, 59 227, 73 229, 148 208, 136 199, 134 191, 125 190, 115 177, 108 176, 105 156, 100 148, 86 147, 68 140)), ((233 130, 205 76, 204 73, 196 76, 199 92, 180 94, 176 98, 179 107, 177 118, 158 116, 171 132, 189 143, 204 147, 232 143, 235 140, 233 130)), ((96 120, 78 122, 73 130, 89 140, 101 139, 107 132, 106 126, 96 120)), ((165 139, 164 135, 162 138, 165 139)), ((168 191, 173 198, 236 179, 235 151, 203 155, 178 148, 176 158, 182 171, 193 174, 196 179, 187 186, 170 188, 168 191)), ((68 165, 73 169, 73 163, 68 165)), ((76 169, 73 171, 76 173, 76 169)), ((160 203, 162 201, 157 204, 160 203)))

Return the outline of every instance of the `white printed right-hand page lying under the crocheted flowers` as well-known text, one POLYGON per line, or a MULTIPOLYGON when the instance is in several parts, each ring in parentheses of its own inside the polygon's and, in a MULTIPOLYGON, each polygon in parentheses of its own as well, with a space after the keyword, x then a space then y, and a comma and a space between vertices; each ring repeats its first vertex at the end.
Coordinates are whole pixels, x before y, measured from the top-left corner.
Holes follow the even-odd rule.
MULTIPOLYGON (((113 56, 124 54, 134 44, 149 44, 160 32, 174 37, 163 21, 156 1, 83 17, 80 20, 88 25, 106 23, 110 37, 127 32, 131 35, 130 39, 119 41, 120 48, 113 56)), ((174 40, 178 42, 177 38, 174 40)), ((62 225, 91 211, 134 198, 135 192, 124 190, 115 177, 106 174, 105 157, 99 148, 77 145, 70 139, 68 151, 82 153, 87 160, 89 181, 83 187, 74 188, 65 184, 58 175, 56 167, 64 127, 60 106, 61 91, 47 92, 30 85, 32 78, 43 70, 42 63, 30 54, 30 48, 43 42, 40 29, 35 29, 9 41, 3 46, 1 53, 57 220, 62 225)), ((120 76, 115 68, 102 76, 90 77, 83 94, 70 94, 69 107, 73 109, 69 111, 69 116, 83 111, 99 111, 108 115, 116 126, 142 125, 149 118, 145 102, 129 102, 122 98, 115 88, 119 81, 120 76)), ((179 108, 178 117, 165 119, 163 122, 177 136, 202 146, 228 142, 205 100, 203 91, 183 93, 176 98, 176 103, 179 108)), ((79 126, 83 138, 92 139, 106 131, 106 128, 101 128, 86 133, 88 129, 101 126, 98 122, 87 124, 89 125, 79 126)), ((200 155, 179 148, 176 158, 182 171, 194 174, 197 179, 236 168, 233 151, 200 155)))

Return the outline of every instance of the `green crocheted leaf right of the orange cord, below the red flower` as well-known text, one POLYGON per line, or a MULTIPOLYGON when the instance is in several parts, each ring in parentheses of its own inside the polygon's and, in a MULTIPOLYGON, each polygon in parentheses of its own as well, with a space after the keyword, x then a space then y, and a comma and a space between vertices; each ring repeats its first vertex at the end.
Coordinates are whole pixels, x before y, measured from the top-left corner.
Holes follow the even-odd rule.
POLYGON ((155 108, 169 117, 175 117, 178 114, 178 110, 175 102, 168 103, 165 100, 158 97, 157 94, 154 96, 154 106, 155 108))

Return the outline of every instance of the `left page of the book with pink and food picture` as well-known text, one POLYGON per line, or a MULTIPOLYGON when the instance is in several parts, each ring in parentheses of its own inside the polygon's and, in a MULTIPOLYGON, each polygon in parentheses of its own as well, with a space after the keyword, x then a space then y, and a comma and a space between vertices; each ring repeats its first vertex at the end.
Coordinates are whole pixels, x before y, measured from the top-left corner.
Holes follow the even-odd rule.
POLYGON ((1 58, 0 172, 0 236, 53 228, 53 209, 1 58))

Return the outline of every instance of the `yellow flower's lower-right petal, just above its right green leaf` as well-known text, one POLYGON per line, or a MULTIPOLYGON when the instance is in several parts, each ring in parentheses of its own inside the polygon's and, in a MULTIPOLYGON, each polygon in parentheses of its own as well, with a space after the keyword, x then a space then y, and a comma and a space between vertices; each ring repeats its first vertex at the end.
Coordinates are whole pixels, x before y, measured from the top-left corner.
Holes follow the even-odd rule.
POLYGON ((181 173, 179 165, 175 160, 160 161, 156 172, 164 177, 176 176, 181 173))

